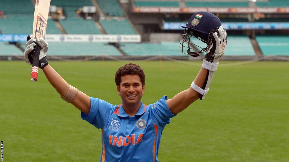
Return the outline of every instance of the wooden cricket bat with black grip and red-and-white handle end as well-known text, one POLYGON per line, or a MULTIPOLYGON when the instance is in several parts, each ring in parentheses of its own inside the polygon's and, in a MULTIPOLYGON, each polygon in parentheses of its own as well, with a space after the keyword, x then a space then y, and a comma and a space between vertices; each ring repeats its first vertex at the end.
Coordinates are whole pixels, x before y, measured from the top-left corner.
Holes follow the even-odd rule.
MULTIPOLYGON (((50 0, 36 0, 32 32, 32 37, 36 39, 36 41, 41 37, 45 39, 49 6, 50 0)), ((30 77, 33 82, 37 81, 40 50, 40 46, 36 43, 30 77)))

